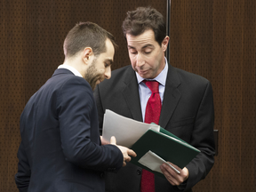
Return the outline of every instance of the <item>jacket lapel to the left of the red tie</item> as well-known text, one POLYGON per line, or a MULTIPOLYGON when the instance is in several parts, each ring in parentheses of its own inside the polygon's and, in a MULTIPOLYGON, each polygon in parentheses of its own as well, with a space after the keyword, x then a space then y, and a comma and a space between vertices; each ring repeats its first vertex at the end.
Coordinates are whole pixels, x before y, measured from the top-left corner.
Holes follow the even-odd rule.
POLYGON ((132 114, 132 118, 136 121, 142 122, 143 120, 140 109, 140 94, 137 78, 131 66, 127 68, 126 72, 127 73, 124 76, 125 87, 122 93, 132 114))

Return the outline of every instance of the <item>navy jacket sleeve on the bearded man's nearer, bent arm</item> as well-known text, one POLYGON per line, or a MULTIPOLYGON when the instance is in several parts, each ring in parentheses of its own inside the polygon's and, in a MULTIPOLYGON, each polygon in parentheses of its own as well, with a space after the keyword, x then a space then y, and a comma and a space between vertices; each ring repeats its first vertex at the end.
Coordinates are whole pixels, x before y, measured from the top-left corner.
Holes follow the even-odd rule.
POLYGON ((66 160, 96 171, 120 169, 123 154, 119 148, 100 146, 98 114, 90 85, 76 77, 63 84, 58 95, 60 140, 66 160))

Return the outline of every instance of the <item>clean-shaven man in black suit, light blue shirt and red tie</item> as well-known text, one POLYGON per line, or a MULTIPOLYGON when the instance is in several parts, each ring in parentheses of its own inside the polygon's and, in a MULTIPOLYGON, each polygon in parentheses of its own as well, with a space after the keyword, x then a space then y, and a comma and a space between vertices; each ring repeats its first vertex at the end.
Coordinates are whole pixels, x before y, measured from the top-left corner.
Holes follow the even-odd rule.
MULTIPOLYGON (((162 164, 160 168, 166 180, 153 175, 153 181, 147 185, 153 182, 150 191, 156 192, 192 191, 191 188, 205 178, 214 163, 212 85, 202 76, 168 64, 164 52, 169 37, 160 12, 143 7, 127 12, 123 31, 132 65, 116 69, 111 79, 96 87, 94 97, 100 127, 106 109, 143 122, 151 94, 144 80, 156 80, 162 103, 159 125, 201 153, 183 169, 172 164, 180 174, 162 164)), ((143 191, 141 178, 143 170, 129 163, 117 173, 106 175, 106 191, 143 191)))

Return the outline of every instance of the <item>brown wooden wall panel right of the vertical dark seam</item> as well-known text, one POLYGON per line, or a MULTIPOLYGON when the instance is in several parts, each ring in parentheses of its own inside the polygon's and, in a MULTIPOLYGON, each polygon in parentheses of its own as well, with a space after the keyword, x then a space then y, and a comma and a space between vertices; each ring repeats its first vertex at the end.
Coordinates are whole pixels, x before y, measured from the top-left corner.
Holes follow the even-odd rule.
POLYGON ((171 63, 212 82, 219 155, 195 191, 255 191, 256 3, 172 0, 171 63))

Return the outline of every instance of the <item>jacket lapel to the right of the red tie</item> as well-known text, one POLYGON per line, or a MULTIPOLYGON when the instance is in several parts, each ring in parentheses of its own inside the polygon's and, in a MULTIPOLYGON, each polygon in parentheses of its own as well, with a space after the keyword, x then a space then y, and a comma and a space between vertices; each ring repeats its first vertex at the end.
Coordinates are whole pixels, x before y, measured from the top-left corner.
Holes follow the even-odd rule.
POLYGON ((159 124, 163 128, 166 127, 170 121, 181 97, 181 93, 178 89, 178 86, 180 85, 180 78, 175 68, 173 68, 171 65, 168 67, 168 74, 164 90, 164 101, 159 119, 159 124))

